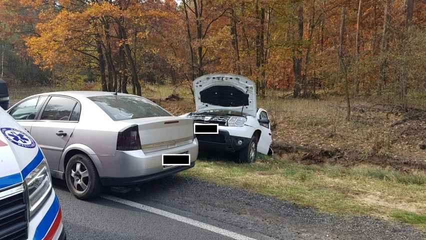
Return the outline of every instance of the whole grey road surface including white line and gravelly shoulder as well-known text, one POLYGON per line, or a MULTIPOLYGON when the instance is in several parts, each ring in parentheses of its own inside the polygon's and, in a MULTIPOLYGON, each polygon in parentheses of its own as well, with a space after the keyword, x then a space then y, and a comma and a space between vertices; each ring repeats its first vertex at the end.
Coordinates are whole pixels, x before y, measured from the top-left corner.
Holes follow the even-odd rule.
POLYGON ((423 239, 369 217, 339 218, 242 189, 169 176, 125 194, 74 198, 53 180, 68 239, 423 239))

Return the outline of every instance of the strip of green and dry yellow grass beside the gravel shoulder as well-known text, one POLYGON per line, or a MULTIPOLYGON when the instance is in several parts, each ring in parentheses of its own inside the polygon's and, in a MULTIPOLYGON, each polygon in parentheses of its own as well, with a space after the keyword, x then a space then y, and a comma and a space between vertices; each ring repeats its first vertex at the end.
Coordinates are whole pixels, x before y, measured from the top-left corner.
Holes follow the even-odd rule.
POLYGON ((242 187, 342 216, 365 214, 426 231, 426 178, 374 166, 303 165, 260 155, 253 164, 201 154, 181 175, 242 187))

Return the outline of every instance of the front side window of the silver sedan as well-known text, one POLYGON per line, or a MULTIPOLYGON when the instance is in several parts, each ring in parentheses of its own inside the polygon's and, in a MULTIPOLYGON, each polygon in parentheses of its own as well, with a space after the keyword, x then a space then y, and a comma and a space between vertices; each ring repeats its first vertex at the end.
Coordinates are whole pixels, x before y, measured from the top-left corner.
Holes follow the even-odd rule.
POLYGON ((28 99, 10 110, 9 114, 15 120, 34 120, 38 109, 43 105, 47 96, 28 99))

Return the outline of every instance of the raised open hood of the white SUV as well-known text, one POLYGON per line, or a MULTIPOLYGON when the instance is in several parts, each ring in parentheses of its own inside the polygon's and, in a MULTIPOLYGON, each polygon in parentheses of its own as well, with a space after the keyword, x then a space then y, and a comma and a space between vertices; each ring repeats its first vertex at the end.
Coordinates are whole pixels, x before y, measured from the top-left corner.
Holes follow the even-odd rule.
POLYGON ((229 110, 256 115, 256 89, 254 83, 233 74, 209 74, 192 83, 197 112, 229 110))

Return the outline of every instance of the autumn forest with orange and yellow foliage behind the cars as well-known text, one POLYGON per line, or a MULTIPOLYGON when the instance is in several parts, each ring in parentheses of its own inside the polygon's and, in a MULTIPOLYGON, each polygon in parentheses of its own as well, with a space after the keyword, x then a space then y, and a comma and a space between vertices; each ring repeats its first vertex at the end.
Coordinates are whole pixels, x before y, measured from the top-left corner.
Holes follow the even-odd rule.
POLYGON ((260 97, 390 94, 406 109, 426 91, 423 0, 0 3, 2 43, 45 72, 87 70, 102 91, 218 72, 254 80, 260 97))

